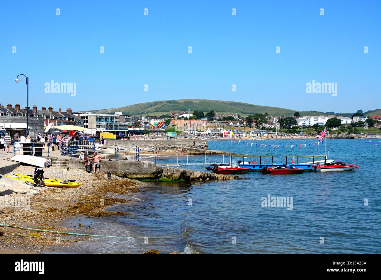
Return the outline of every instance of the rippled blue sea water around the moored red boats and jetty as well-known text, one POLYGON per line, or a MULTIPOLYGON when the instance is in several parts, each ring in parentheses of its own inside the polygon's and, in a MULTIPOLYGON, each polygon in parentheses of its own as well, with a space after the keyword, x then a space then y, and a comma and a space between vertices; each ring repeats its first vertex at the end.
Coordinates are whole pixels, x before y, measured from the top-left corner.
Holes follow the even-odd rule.
MULTIPOLYGON (((323 155, 324 146, 273 145, 314 141, 250 141, 271 147, 237 141, 233 152, 274 155, 274 162, 282 164, 286 155, 323 155)), ((230 141, 210 141, 209 147, 230 151, 230 141)), ((109 208, 131 216, 74 218, 67 224, 90 225, 99 235, 134 237, 93 237, 77 245, 85 253, 381 253, 381 142, 328 139, 328 150, 335 161, 360 168, 293 175, 249 172, 242 176, 250 180, 151 184, 128 197, 136 202, 109 208), (269 195, 286 197, 289 204, 263 207, 269 195)), ((205 161, 203 156, 179 158, 205 161)), ((221 162, 222 157, 208 156, 206 161, 221 162)), ((177 157, 160 156, 158 162, 176 163, 177 157)), ((188 168, 205 170, 202 165, 188 168)))

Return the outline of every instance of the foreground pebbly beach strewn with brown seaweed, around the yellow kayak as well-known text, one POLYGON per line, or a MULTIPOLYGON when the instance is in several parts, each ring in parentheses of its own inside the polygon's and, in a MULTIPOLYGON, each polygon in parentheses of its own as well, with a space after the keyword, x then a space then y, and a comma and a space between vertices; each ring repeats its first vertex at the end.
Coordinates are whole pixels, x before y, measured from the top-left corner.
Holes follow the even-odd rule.
MULTIPOLYGON (((19 166, 13 173, 32 174, 33 167, 19 166)), ((107 174, 92 174, 82 170, 44 169, 46 178, 73 179, 82 185, 76 189, 41 187, 37 195, 23 194, 4 195, 0 207, 0 224, 34 229, 94 234, 90 227, 81 224, 72 227, 62 226, 62 222, 75 215, 88 218, 110 215, 128 215, 124 212, 109 212, 104 207, 115 203, 133 203, 128 199, 134 192, 139 192, 144 182, 107 174), (24 207, 5 206, 6 201, 30 197, 29 205, 24 207), (25 207, 27 206, 27 207, 25 207), (29 208, 29 209, 28 209, 29 208)), ((2 175, 2 176, 6 176, 2 175)), ((96 234, 96 233, 95 233, 96 234)), ((75 252, 76 242, 88 237, 56 232, 21 229, 0 226, 0 253, 41 253, 41 252, 75 252)))

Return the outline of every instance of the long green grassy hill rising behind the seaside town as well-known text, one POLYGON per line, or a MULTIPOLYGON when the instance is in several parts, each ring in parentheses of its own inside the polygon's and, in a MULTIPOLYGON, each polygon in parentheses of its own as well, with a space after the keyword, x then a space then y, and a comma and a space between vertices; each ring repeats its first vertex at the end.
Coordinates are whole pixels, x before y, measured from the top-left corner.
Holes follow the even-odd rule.
MULTIPOLYGON (((125 114, 131 114, 134 116, 145 115, 162 115, 170 114, 176 111, 188 111, 194 110, 209 112, 214 110, 216 113, 238 113, 242 116, 247 116, 254 113, 269 113, 270 115, 290 115, 294 114, 298 110, 291 110, 278 107, 259 106, 254 104, 234 102, 234 101, 219 101, 208 99, 179 99, 179 100, 167 100, 167 101, 154 101, 133 104, 130 106, 102 109, 102 110, 90 110, 86 112, 95 112, 99 114, 123 112, 125 114)), ((322 112, 317 111, 304 111, 300 112, 301 115, 321 115, 322 112)))

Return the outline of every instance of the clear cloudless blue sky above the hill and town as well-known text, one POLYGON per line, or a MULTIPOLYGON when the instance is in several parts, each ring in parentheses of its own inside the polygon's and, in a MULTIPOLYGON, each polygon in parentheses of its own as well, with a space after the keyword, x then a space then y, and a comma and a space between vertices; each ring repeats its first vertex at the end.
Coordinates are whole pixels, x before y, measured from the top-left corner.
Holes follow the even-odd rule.
POLYGON ((29 105, 39 109, 183 98, 337 113, 378 109, 380 14, 378 0, 2 1, 0 102, 26 106, 26 85, 14 82, 23 73, 29 105), (77 83, 76 96, 45 93, 51 80, 77 83), (306 93, 312 80, 338 83, 337 96, 306 93))

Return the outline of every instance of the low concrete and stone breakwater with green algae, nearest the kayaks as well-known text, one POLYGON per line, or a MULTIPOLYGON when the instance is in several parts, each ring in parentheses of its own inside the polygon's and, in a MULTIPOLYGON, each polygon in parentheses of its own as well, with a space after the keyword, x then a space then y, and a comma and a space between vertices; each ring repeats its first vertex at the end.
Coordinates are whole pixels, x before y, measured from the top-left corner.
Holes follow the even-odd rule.
MULTIPOLYGON (((85 169, 83 161, 78 159, 69 160, 69 168, 85 169)), ((195 171, 182 168, 155 165, 150 161, 131 160, 103 160, 101 162, 101 172, 110 171, 112 174, 137 180, 160 180, 170 181, 208 181, 208 180, 231 180, 244 179, 239 176, 226 174, 215 174, 205 171, 195 171)))

